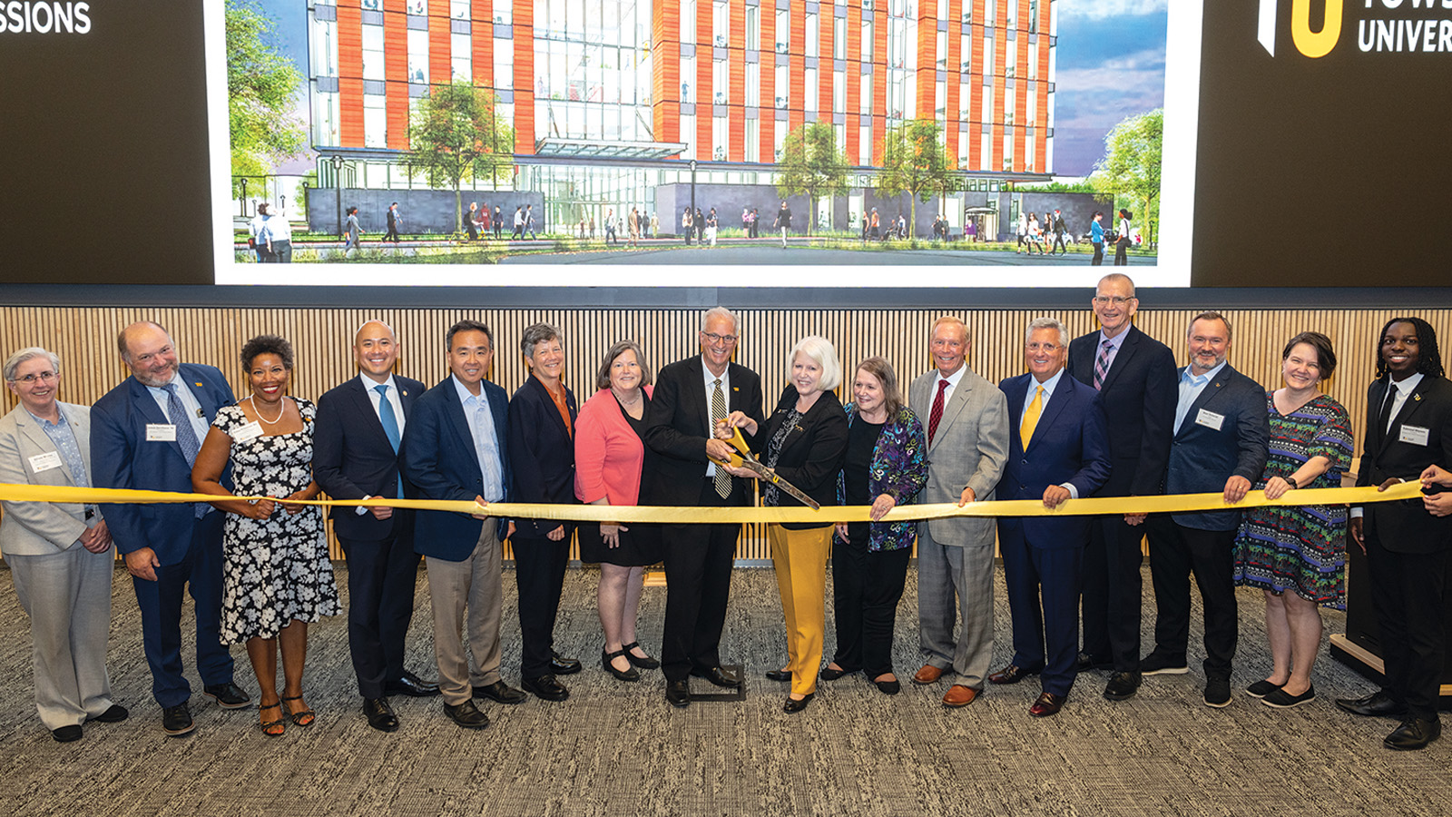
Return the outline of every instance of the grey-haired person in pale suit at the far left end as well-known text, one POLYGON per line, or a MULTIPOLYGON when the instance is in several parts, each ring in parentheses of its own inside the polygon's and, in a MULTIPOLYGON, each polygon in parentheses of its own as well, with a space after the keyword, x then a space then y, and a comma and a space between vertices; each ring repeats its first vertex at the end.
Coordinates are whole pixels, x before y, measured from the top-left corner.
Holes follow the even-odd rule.
MULTIPOLYGON (((90 408, 60 403, 61 361, 41 347, 4 363, 20 398, 0 417, 0 483, 90 487, 90 408)), ((94 504, 6 502, 0 551, 30 616, 35 708, 61 743, 86 721, 126 720, 110 695, 106 635, 116 557, 94 504)))

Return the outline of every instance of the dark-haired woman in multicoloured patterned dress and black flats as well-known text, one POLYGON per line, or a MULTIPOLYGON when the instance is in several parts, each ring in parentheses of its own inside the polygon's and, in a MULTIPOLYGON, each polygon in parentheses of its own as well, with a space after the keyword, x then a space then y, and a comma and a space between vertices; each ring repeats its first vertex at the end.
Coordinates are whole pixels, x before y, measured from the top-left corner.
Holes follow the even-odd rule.
MULTIPOLYGON (((1266 393, 1270 456, 1256 488, 1278 499, 1297 488, 1334 488, 1350 467, 1346 408, 1317 385, 1336 369, 1331 342, 1302 331, 1281 353, 1285 385, 1266 393)), ((1236 536, 1236 584, 1265 590, 1273 667, 1246 688, 1268 707, 1316 698, 1311 666, 1321 645, 1320 606, 1346 609, 1346 507, 1266 506, 1246 512, 1236 536)))

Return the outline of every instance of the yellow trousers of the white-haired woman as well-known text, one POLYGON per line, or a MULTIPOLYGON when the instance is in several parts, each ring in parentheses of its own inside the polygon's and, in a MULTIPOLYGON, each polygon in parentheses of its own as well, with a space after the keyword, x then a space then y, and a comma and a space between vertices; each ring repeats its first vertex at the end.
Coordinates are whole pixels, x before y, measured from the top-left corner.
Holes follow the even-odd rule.
POLYGON ((767 528, 771 563, 777 567, 781 612, 787 618, 787 669, 791 692, 816 692, 822 667, 822 637, 826 629, 826 557, 832 550, 832 528, 787 531, 767 528))

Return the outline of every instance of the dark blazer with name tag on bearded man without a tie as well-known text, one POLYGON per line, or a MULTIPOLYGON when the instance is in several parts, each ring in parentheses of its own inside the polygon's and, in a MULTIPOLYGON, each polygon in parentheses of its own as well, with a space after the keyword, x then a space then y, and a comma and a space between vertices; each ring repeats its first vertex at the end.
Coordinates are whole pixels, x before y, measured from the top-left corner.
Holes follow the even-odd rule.
MULTIPOLYGON (((1175 378, 1179 379, 1179 372, 1175 372, 1175 378)), ((1178 394, 1176 387, 1176 403, 1178 394)), ((1175 422, 1173 417, 1170 422, 1175 422)), ((1269 440, 1270 419, 1265 390, 1225 363, 1189 404, 1185 422, 1175 433, 1169 468, 1165 471, 1165 491, 1221 493, 1230 477, 1244 477, 1255 484, 1266 468, 1269 440), (1196 422, 1202 410, 1220 414, 1218 429, 1196 422)), ((1240 525, 1240 512, 1176 513, 1175 522, 1198 531, 1234 531, 1240 525)))

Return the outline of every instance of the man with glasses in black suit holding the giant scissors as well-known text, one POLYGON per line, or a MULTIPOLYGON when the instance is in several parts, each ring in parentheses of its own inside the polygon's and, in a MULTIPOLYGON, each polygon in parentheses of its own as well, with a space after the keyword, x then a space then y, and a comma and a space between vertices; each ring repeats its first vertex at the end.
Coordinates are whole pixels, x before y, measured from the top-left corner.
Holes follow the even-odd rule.
MULTIPOLYGON (((717 422, 732 411, 764 422, 761 378, 730 362, 736 340, 736 315, 725 307, 711 308, 701 320, 701 353, 665 366, 656 377, 645 440, 661 458, 645 477, 642 504, 729 507, 751 502, 746 480, 716 468, 732 451, 714 438, 717 422)), ((735 523, 662 526, 666 596, 661 669, 672 707, 690 705, 693 675, 717 686, 741 685, 720 666, 739 534, 735 523)))

